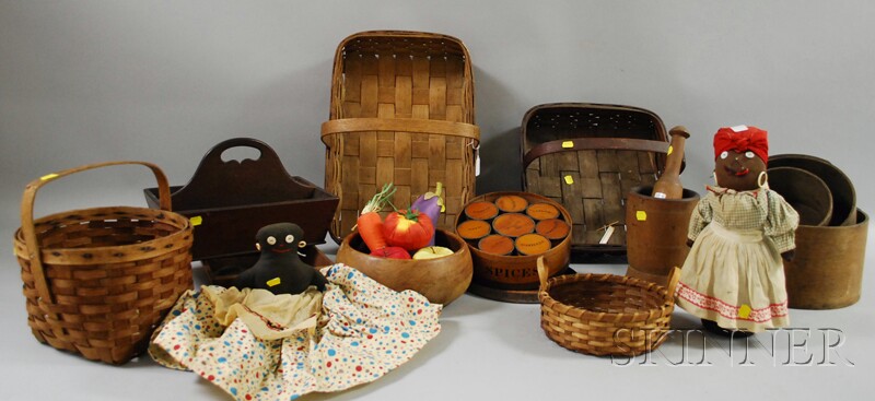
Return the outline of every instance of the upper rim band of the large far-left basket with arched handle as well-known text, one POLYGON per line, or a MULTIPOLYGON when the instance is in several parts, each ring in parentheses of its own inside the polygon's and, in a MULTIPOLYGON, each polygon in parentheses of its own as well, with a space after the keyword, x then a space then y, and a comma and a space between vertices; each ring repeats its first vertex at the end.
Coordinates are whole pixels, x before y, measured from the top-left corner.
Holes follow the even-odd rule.
MULTIPOLYGON (((149 259, 149 258, 151 258, 153 256, 153 252, 164 253, 164 252, 167 252, 167 251, 173 251, 175 249, 185 247, 186 244, 188 246, 190 246, 190 244, 191 244, 191 241, 194 239, 190 236, 190 233, 192 231, 191 223, 184 215, 182 215, 179 213, 176 213, 176 212, 171 212, 171 211, 165 211, 165 210, 160 210, 160 209, 141 208, 141 207, 100 207, 100 208, 86 208, 86 209, 69 210, 69 211, 52 213, 52 214, 39 217, 39 219, 34 221, 34 225, 36 226, 38 224, 45 224, 47 222, 50 222, 54 219, 68 216, 68 215, 71 215, 71 214, 72 215, 75 215, 75 214, 90 214, 90 213, 102 212, 102 211, 122 211, 122 212, 129 212, 131 214, 135 214, 135 213, 136 214, 143 214, 145 216, 149 216, 149 215, 160 216, 160 215, 163 214, 163 215, 166 215, 168 217, 168 222, 167 223, 176 223, 176 224, 172 224, 172 225, 174 225, 177 228, 177 231, 172 233, 172 234, 170 234, 170 235, 167 235, 167 236, 164 236, 164 237, 150 239, 150 240, 145 240, 145 241, 142 241, 142 243, 133 243, 133 244, 125 244, 125 245, 101 246, 101 247, 90 247, 90 248, 44 248, 42 246, 38 246, 39 252, 44 253, 43 257, 42 257, 43 262, 45 264, 52 264, 52 266, 54 264, 67 264, 67 266, 105 264, 105 266, 108 266, 108 264, 112 264, 112 262, 102 262, 100 260, 101 258, 97 255, 117 253, 119 251, 125 251, 125 250, 135 249, 135 248, 138 248, 138 249, 142 250, 142 248, 144 248, 144 247, 150 247, 150 246, 153 246, 153 245, 156 245, 156 244, 164 244, 164 243, 173 245, 171 247, 166 247, 166 246, 153 247, 154 248, 153 251, 142 253, 141 258, 128 259, 127 261, 140 260, 140 259, 149 259), (180 244, 178 241, 178 237, 184 236, 186 234, 189 234, 188 240, 185 240, 184 243, 180 244), (95 256, 93 258, 89 258, 89 259, 93 259, 93 260, 88 260, 84 263, 75 263, 75 262, 69 262, 69 261, 66 262, 66 263, 59 262, 59 259, 61 259, 61 258, 66 258, 66 257, 70 257, 70 256, 73 256, 73 257, 78 256, 78 257, 81 258, 84 253, 92 253, 92 255, 95 255, 95 256)), ((32 258, 30 257, 30 255, 27 255, 27 250, 26 249, 27 249, 27 247, 26 247, 26 244, 25 244, 25 240, 24 240, 24 233, 22 231, 22 227, 18 227, 15 229, 15 233, 14 233, 14 251, 15 251, 14 253, 19 258, 22 258, 22 259, 25 259, 25 260, 31 260, 32 258)))

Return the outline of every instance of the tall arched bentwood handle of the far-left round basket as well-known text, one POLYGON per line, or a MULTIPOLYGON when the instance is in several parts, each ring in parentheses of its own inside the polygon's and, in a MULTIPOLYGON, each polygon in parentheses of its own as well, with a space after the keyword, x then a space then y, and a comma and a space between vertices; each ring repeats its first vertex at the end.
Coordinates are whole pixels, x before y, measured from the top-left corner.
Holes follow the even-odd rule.
POLYGON ((149 167, 152 173, 155 175, 155 179, 158 180, 158 189, 159 189, 159 205, 163 211, 171 211, 171 187, 167 184, 167 177, 164 175, 164 172, 161 170, 156 165, 147 162, 104 162, 104 163, 94 163, 94 164, 86 164, 84 166, 69 168, 62 172, 47 174, 43 177, 39 177, 24 188, 24 196, 22 196, 21 200, 21 233, 24 237, 24 246, 27 248, 27 256, 31 260, 31 273, 34 275, 34 285, 36 286, 36 292, 39 296, 46 300, 54 303, 51 299, 51 293, 48 291, 48 284, 46 283, 46 275, 43 270, 43 260, 39 255, 39 247, 36 243, 36 228, 34 227, 34 200, 36 198, 36 191, 43 187, 44 185, 54 181, 58 178, 62 178, 69 176, 74 173, 80 173, 89 169, 95 169, 100 167, 106 166, 115 166, 121 164, 139 164, 145 167, 149 167))

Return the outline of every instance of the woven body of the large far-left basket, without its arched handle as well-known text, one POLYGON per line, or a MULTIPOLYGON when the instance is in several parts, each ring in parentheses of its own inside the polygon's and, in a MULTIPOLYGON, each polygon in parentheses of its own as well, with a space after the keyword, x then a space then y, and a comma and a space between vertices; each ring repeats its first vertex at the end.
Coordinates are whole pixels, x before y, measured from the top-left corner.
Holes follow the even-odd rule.
MULTIPOLYGON (((120 210, 113 210, 116 220, 108 222, 110 225, 119 221, 140 224, 143 219, 150 219, 150 209, 135 209, 135 213, 119 214, 116 212, 120 210)), ((78 211, 75 215, 83 219, 80 221, 69 219, 70 215, 38 221, 38 226, 54 226, 40 232, 40 238, 52 238, 58 244, 40 250, 54 303, 46 302, 35 288, 21 232, 16 234, 15 253, 22 267, 27 323, 37 340, 80 353, 89 359, 119 364, 144 350, 154 325, 163 319, 183 292, 191 288, 188 252, 191 228, 185 217, 154 211, 151 219, 174 221, 178 225, 174 232, 154 231, 156 241, 140 243, 150 244, 148 246, 131 244, 124 237, 114 241, 100 236, 80 248, 65 248, 69 244, 65 240, 67 234, 81 236, 77 226, 70 224, 98 224, 101 221, 89 219, 104 211, 106 209, 78 211), (151 243, 166 245, 155 253, 148 250, 158 248, 151 243), (83 257, 88 255, 91 257, 83 257)))

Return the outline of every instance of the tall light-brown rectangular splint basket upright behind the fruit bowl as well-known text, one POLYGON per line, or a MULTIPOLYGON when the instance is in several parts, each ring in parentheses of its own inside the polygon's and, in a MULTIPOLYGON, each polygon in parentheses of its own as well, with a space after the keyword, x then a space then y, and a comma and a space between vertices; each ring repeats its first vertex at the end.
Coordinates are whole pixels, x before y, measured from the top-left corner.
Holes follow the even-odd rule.
POLYGON ((399 208, 443 182, 452 231, 475 193, 474 73, 460 40, 375 31, 343 39, 335 56, 330 120, 323 125, 325 189, 340 198, 331 235, 351 232, 359 211, 394 182, 399 208))

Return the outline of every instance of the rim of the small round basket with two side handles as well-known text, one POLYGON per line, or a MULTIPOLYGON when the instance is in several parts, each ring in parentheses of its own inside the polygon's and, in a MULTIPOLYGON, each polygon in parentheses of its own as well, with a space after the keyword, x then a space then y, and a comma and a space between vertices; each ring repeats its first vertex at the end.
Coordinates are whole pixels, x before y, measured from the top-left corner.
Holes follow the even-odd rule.
POLYGON ((538 291, 538 299, 540 300, 542 308, 548 308, 557 312, 561 312, 563 315, 573 314, 574 316, 579 316, 580 319, 582 320, 590 320, 590 321, 616 322, 619 321, 621 318, 626 318, 627 316, 631 316, 631 321, 642 321, 649 318, 669 316, 674 311, 674 306, 675 306, 674 296, 669 297, 668 292, 664 286, 644 280, 639 280, 635 278, 618 275, 618 274, 609 274, 609 273, 578 273, 578 274, 568 274, 568 275, 551 278, 547 280, 547 284, 544 285, 538 291), (646 309, 646 311, 642 310, 632 314, 607 312, 607 311, 592 311, 586 308, 581 308, 569 304, 564 304, 550 296, 550 288, 555 286, 563 284, 574 284, 576 282, 583 282, 583 281, 603 281, 603 282, 611 282, 611 283, 644 288, 645 291, 655 292, 657 295, 662 295, 663 303, 658 307, 646 309))

